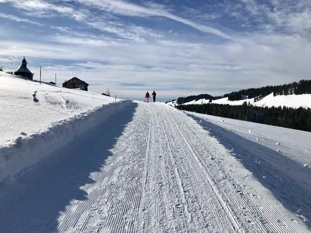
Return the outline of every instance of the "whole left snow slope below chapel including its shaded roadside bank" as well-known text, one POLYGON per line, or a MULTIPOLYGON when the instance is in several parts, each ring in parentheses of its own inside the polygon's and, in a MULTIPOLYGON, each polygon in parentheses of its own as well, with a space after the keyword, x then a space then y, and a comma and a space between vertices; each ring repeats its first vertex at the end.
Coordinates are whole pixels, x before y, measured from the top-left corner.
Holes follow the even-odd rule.
POLYGON ((0 182, 14 177, 131 101, 0 72, 0 182))

